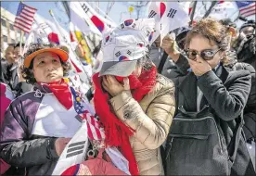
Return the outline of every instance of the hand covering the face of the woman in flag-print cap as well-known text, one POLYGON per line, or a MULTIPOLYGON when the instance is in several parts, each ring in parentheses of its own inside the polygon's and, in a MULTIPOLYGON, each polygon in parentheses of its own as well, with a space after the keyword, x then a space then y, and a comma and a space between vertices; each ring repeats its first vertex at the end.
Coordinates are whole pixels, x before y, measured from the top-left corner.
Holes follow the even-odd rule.
POLYGON ((118 82, 114 76, 110 75, 103 76, 102 86, 111 96, 116 96, 121 94, 122 91, 130 90, 128 78, 124 78, 122 84, 118 82))

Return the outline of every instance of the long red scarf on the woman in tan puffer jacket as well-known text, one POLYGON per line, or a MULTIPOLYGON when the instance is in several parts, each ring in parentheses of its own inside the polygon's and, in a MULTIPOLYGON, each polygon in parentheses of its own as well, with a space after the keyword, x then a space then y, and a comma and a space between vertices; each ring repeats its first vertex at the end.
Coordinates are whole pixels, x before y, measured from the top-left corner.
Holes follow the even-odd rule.
MULTIPOLYGON (((156 84, 157 69, 152 67, 149 70, 143 69, 139 77, 129 76, 130 88, 136 101, 140 101, 156 84)), ((118 81, 123 78, 116 77, 118 81)), ((138 175, 138 167, 134 157, 133 149, 129 142, 129 136, 134 134, 134 129, 126 126, 120 119, 111 112, 109 102, 109 94, 102 90, 101 78, 98 73, 93 76, 95 84, 94 103, 96 114, 105 127, 106 139, 105 143, 109 146, 118 146, 122 155, 129 161, 129 170, 132 175, 138 175)))

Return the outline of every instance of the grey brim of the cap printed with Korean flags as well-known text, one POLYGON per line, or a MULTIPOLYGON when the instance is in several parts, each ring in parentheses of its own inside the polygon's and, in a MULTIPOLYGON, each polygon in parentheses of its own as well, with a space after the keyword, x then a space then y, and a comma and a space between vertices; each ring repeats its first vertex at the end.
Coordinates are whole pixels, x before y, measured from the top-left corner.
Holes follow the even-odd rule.
POLYGON ((127 77, 130 76, 136 68, 137 60, 110 61, 104 62, 99 71, 99 76, 113 75, 127 77))

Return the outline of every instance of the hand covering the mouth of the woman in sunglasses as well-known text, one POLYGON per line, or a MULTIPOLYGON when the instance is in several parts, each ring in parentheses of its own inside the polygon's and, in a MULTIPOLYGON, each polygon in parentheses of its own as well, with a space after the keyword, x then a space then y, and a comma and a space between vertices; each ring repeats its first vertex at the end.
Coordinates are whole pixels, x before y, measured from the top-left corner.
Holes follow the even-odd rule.
POLYGON ((196 76, 202 76, 203 74, 211 71, 211 66, 204 59, 197 57, 197 60, 188 59, 189 65, 196 76))

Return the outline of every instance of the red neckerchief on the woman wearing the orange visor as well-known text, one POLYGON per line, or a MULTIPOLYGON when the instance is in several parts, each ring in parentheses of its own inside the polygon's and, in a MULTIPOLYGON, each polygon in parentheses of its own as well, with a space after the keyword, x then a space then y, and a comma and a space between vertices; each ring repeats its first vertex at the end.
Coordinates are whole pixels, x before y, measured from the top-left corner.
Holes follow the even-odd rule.
POLYGON ((50 89, 50 91, 56 96, 58 102, 66 107, 66 109, 70 109, 72 107, 72 94, 70 92, 70 86, 67 82, 62 79, 60 82, 48 82, 42 83, 41 85, 45 85, 50 89))

